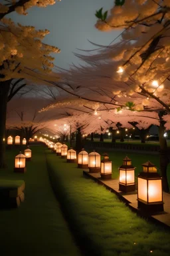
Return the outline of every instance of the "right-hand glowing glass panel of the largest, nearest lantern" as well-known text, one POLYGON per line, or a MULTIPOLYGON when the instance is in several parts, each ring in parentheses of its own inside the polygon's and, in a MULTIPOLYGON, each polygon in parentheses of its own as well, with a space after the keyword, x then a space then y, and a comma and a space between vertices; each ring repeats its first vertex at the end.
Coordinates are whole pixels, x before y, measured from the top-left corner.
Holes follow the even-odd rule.
POLYGON ((148 181, 148 203, 162 201, 161 179, 148 181))

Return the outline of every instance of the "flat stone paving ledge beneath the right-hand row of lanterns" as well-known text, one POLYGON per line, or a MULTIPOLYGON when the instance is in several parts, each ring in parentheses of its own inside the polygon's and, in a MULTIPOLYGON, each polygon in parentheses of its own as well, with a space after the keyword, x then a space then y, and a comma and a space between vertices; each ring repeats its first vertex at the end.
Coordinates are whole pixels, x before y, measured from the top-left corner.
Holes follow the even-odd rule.
MULTIPOLYGON (((104 185, 111 192, 116 193, 122 201, 124 201, 133 211, 139 213, 139 215, 143 216, 143 212, 139 211, 137 208, 137 191, 131 191, 129 193, 124 193, 119 190, 119 180, 118 179, 110 179, 110 180, 102 180, 100 177, 100 173, 89 173, 88 170, 83 171, 84 175, 87 175, 100 185, 104 185)), ((150 219, 154 221, 158 221, 159 223, 163 223, 167 227, 170 227, 170 194, 163 192, 163 213, 155 213, 155 215, 151 215, 150 219)), ((146 215, 147 216, 147 213, 146 215)), ((148 217, 148 216, 147 216, 148 217)))

